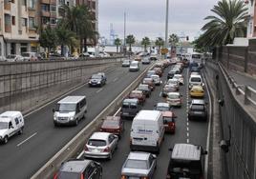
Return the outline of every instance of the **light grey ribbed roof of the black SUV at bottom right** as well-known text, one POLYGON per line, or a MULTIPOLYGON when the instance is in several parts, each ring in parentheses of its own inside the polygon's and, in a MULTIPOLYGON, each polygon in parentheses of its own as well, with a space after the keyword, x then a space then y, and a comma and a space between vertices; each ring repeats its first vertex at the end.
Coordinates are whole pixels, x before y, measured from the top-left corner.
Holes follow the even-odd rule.
POLYGON ((175 144, 172 159, 193 160, 201 159, 201 147, 192 144, 175 144))

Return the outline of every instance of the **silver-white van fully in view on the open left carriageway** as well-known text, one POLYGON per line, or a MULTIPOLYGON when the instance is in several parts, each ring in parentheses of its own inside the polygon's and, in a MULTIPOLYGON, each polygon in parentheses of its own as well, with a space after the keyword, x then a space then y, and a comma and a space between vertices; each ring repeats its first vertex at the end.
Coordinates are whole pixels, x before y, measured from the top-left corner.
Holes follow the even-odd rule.
POLYGON ((86 96, 67 96, 57 102, 53 109, 53 124, 78 125, 78 121, 85 118, 87 112, 86 96))

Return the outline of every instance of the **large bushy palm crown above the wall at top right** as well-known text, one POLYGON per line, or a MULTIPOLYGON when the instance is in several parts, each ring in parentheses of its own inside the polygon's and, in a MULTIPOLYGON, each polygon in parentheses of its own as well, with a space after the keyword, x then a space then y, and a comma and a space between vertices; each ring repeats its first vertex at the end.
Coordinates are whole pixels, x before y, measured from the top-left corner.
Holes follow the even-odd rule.
POLYGON ((210 20, 202 30, 196 43, 201 47, 222 46, 233 43, 235 37, 245 37, 247 9, 240 0, 222 0, 211 10, 216 15, 209 15, 210 20))

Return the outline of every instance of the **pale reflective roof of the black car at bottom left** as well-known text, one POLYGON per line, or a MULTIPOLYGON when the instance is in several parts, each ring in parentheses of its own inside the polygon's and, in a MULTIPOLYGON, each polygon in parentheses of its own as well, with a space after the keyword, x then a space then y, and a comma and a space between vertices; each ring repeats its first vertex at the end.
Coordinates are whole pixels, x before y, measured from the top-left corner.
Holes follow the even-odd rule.
POLYGON ((60 171, 66 172, 82 172, 91 163, 91 160, 70 160, 65 162, 60 171))

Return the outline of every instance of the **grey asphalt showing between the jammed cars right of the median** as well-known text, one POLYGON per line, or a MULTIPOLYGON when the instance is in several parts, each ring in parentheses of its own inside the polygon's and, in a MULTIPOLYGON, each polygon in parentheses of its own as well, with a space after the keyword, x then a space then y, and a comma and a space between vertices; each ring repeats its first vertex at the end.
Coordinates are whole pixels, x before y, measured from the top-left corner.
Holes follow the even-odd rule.
MULTIPOLYGON (((170 68, 164 70, 162 76, 162 81, 166 81, 167 72, 170 68)), ((183 70, 185 85, 181 86, 180 92, 182 96, 182 107, 174 108, 173 111, 178 116, 176 119, 176 133, 175 134, 165 134, 165 140, 160 147, 160 154, 158 155, 158 169, 155 171, 154 178, 161 179, 166 178, 166 171, 168 167, 169 158, 171 156, 171 151, 175 143, 191 143, 202 145, 203 149, 206 148, 206 137, 207 137, 207 126, 208 122, 200 121, 188 121, 187 120, 187 102, 191 100, 188 96, 187 81, 188 72, 186 69, 183 70)), ((160 97, 160 89, 162 86, 157 87, 150 98, 146 99, 146 103, 143 109, 154 109, 154 105, 158 102, 165 101, 164 98, 160 97)), ((204 99, 208 100, 208 96, 204 99)), ((129 139, 130 139, 130 129, 132 125, 132 120, 125 120, 125 132, 122 138, 119 140, 118 149, 113 155, 111 161, 97 160, 102 164, 103 167, 103 178, 104 179, 117 179, 120 178, 120 172, 122 164, 124 163, 126 157, 130 152, 129 139)))

